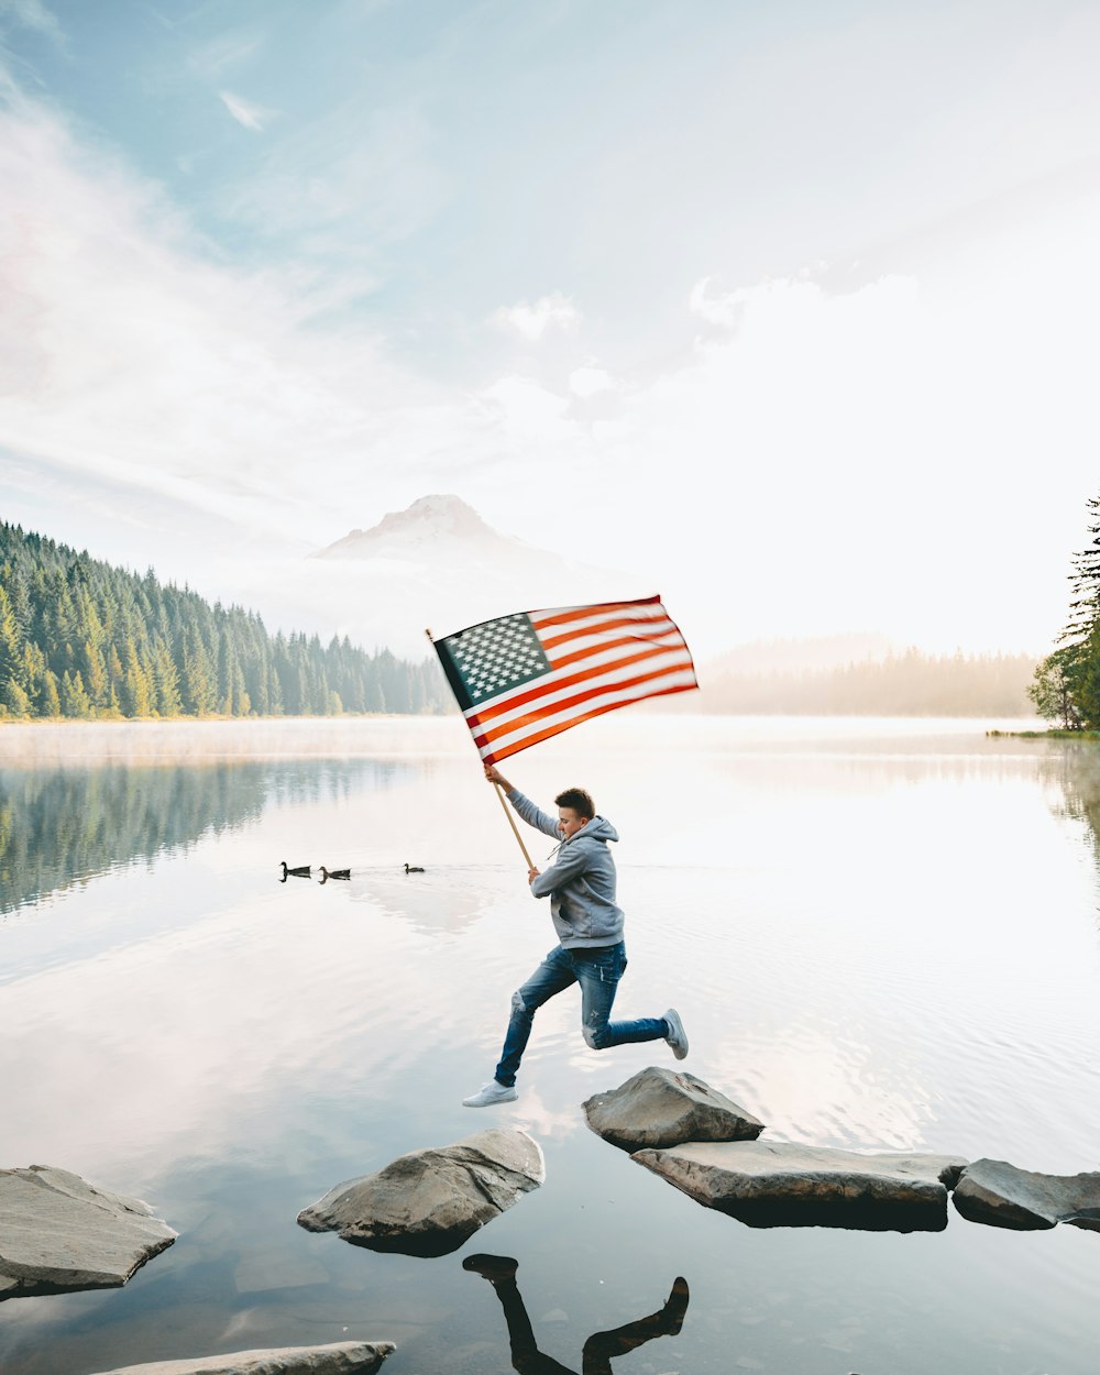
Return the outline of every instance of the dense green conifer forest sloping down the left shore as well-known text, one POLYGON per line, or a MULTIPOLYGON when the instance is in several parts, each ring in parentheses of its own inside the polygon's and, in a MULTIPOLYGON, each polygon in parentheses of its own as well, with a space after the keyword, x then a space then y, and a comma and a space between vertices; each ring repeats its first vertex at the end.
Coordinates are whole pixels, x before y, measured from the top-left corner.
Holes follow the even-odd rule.
POLYGON ((0 718, 334 716, 452 707, 433 660, 268 634, 213 605, 0 525, 0 718))

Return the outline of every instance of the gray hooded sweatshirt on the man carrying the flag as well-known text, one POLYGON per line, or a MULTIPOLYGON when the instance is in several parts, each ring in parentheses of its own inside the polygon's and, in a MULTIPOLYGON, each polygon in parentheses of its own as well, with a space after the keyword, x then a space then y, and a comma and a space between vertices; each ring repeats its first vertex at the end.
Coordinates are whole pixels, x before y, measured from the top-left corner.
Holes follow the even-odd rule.
MULTIPOLYGON (((513 788, 507 800, 522 820, 561 840, 556 817, 539 810, 513 788)), ((536 898, 550 898, 550 916, 566 949, 619 945, 623 910, 615 902, 615 859, 608 848, 619 832, 605 817, 593 817, 568 840, 561 840, 550 868, 531 884, 536 898)))

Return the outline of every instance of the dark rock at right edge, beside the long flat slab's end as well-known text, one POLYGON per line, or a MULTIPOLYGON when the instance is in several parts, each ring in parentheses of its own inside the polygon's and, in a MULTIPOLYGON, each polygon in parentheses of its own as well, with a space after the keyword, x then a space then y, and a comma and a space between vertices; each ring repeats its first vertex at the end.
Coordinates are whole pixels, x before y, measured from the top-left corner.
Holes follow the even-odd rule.
POLYGON ((962 1172, 954 1206, 971 1222, 1020 1232, 1071 1222, 1100 1231, 1100 1174, 1034 1174, 1008 1160, 975 1160, 962 1172))

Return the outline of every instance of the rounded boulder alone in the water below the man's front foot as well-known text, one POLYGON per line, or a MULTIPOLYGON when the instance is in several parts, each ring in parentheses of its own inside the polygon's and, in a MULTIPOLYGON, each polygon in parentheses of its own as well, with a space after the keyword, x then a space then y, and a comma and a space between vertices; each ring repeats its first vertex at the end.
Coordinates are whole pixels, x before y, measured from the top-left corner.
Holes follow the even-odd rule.
POLYGON ((374 1251, 447 1255, 544 1178, 542 1150, 527 1132, 491 1128, 337 1184, 298 1224, 374 1251))

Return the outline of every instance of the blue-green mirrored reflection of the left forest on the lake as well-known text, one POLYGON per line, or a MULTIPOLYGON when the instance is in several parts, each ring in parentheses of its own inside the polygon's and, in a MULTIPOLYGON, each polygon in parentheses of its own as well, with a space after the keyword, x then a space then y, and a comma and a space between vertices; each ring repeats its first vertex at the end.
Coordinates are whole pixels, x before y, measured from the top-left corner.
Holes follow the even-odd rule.
POLYGON ((0 770, 0 912, 254 821, 268 800, 384 782, 370 760, 0 770))

